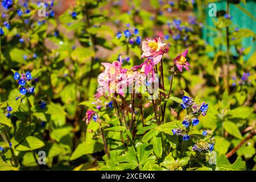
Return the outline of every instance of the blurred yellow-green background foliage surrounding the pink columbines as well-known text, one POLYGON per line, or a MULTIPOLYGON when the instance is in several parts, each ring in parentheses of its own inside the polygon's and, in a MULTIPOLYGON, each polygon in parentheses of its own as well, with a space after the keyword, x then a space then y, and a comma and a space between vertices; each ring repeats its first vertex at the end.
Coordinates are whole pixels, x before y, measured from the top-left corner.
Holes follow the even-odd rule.
MULTIPOLYGON (((127 27, 138 28, 134 41, 162 37, 168 44, 165 69, 189 48, 191 71, 174 78, 172 94, 180 98, 185 90, 209 102, 197 130, 213 133, 218 154, 227 154, 255 130, 255 1, 44 1, 46 17, 38 16, 37 3, 13 0, 12 7, 0 9, 0 169, 121 169, 104 167, 102 140, 88 132, 98 126, 82 119, 96 93, 101 62, 122 55, 124 67, 142 63, 141 45, 117 37, 127 27), (211 2, 217 17, 208 15, 211 2), (225 16, 228 4, 232 18, 225 16), (22 102, 15 100, 20 95, 15 71, 31 71, 39 79, 35 95, 22 102), (10 118, 7 106, 13 107, 10 118), (38 151, 46 151, 47 165, 36 163, 38 151)), ((164 76, 168 88, 171 73, 164 76)), ((170 106, 184 117, 179 104, 170 101, 170 106)), ((151 114, 145 110, 146 117, 151 114)), ((166 114, 167 121, 174 119, 170 109, 166 114)), ((111 131, 108 135, 114 138, 111 131)), ((233 169, 256 169, 255 142, 251 137, 229 158, 246 162, 233 169)))

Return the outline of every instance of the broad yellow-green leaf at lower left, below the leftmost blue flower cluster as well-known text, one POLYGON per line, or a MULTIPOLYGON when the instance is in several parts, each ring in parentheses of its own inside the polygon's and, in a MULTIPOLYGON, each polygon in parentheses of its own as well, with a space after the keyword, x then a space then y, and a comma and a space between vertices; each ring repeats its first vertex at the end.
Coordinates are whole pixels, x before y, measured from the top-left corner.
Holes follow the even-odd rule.
POLYGON ((42 142, 41 140, 39 140, 36 137, 29 136, 26 139, 24 139, 22 141, 22 143, 20 143, 18 145, 18 147, 16 147, 16 150, 18 150, 18 151, 31 151, 31 150, 36 150, 38 148, 41 148, 43 146, 44 146, 44 142, 42 142))

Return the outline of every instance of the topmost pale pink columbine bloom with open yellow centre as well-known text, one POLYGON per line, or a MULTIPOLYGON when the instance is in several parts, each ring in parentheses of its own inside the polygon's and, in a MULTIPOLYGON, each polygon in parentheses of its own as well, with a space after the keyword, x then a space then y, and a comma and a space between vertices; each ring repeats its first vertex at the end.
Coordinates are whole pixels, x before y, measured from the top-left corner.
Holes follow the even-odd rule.
POLYGON ((154 40, 147 38, 147 40, 142 43, 143 53, 141 58, 153 57, 154 65, 158 64, 161 61, 163 54, 166 52, 165 45, 165 43, 162 43, 160 37, 155 38, 154 40))

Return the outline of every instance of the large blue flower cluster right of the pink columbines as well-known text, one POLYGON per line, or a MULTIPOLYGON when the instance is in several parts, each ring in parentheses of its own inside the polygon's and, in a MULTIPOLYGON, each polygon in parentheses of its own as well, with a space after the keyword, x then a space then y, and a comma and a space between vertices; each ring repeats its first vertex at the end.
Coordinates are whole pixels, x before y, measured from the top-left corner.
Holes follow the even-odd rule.
MULTIPOLYGON (((187 115, 184 121, 182 122, 183 126, 185 127, 185 130, 172 129, 172 133, 174 135, 182 135, 183 140, 189 140, 189 126, 193 127, 199 125, 199 119, 197 117, 199 117, 200 114, 206 115, 208 110, 208 104, 205 104, 205 102, 203 102, 201 105, 196 105, 192 98, 188 96, 184 96, 182 98, 182 101, 183 103, 180 104, 181 107, 183 109, 187 109, 187 115)), ((205 135, 207 135, 207 133, 205 135)))

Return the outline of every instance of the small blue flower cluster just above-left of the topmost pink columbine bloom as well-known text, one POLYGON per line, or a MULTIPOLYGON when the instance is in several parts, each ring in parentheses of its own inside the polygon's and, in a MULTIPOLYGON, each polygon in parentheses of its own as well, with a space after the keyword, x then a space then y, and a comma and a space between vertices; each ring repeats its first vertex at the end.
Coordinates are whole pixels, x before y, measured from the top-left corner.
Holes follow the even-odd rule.
MULTIPOLYGON (((130 24, 126 24, 127 27, 130 27, 130 24)), ((123 31, 123 35, 125 35, 126 38, 129 38, 129 44, 134 44, 136 42, 137 44, 141 44, 141 36, 138 36, 139 30, 138 28, 134 28, 133 30, 127 29, 123 31), (132 34, 133 32, 133 34, 132 34)), ((120 39, 122 37, 122 32, 117 32, 117 38, 120 39)))

